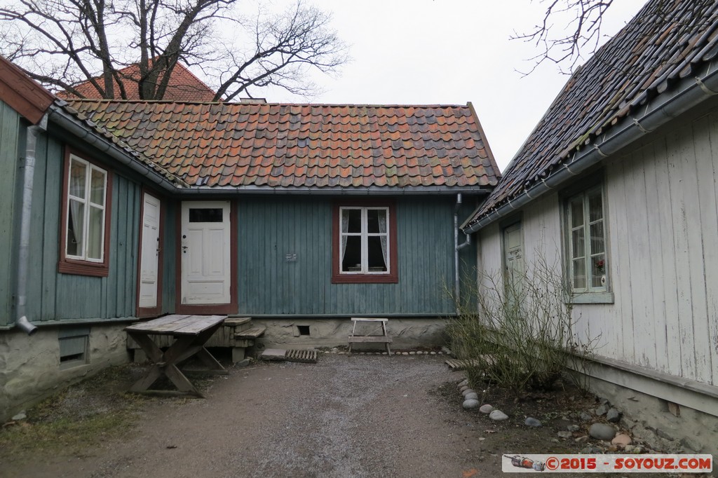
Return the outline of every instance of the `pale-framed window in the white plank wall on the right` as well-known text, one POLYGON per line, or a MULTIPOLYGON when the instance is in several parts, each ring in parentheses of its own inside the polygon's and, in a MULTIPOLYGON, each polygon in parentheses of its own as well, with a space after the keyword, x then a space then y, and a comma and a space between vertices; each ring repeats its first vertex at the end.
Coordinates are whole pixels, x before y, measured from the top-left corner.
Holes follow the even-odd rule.
POLYGON ((574 294, 607 291, 605 207, 602 186, 566 202, 569 285, 574 294))

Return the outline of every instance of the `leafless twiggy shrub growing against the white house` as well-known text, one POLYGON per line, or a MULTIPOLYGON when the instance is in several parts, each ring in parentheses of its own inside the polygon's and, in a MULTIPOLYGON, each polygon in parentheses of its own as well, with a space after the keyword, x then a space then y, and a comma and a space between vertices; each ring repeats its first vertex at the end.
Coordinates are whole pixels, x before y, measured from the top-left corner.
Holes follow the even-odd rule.
MULTIPOLYGON (((574 334, 572 294, 560 268, 541 254, 525 271, 504 277, 485 273, 473 287, 472 301, 457 305, 447 327, 452 350, 470 360, 467 378, 513 390, 548 389, 566 370, 567 360, 587 367, 596 339, 574 334)), ((577 384, 580 385, 580 384, 577 384)))

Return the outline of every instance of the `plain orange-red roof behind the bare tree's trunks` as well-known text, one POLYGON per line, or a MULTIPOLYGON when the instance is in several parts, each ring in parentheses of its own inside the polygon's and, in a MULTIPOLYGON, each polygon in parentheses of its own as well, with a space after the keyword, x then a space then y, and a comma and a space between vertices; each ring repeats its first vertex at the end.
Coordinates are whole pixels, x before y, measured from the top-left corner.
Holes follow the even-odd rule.
MULTIPOLYGON (((137 81, 139 80, 139 67, 137 65, 130 65, 120 70, 120 74, 126 78, 123 80, 125 93, 128 100, 139 100, 139 88, 137 81)), ((102 81, 98 81, 100 85, 103 85, 102 81)), ((75 86, 78 93, 83 98, 101 98, 95 85, 90 81, 85 81, 75 86)), ((115 97, 120 97, 120 89, 117 82, 115 82, 115 97)), ((57 93, 57 98, 71 99, 78 98, 72 93, 61 91, 57 93)), ((181 63, 172 70, 172 76, 169 78, 167 84, 167 90, 164 93, 164 99, 169 101, 212 101, 215 98, 215 92, 208 85, 202 82, 199 78, 192 74, 190 70, 182 66, 181 63)))

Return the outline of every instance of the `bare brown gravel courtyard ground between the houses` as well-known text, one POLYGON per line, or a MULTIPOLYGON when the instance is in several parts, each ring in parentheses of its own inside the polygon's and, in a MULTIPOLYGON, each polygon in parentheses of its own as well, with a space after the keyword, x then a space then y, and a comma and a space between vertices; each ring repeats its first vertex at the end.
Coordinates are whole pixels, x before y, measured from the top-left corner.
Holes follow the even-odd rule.
POLYGON ((0 475, 498 476, 500 456, 482 456, 477 425, 439 393, 457 394, 459 379, 429 355, 320 354, 317 364, 236 368, 205 400, 151 404, 124 441, 36 456, 0 475))

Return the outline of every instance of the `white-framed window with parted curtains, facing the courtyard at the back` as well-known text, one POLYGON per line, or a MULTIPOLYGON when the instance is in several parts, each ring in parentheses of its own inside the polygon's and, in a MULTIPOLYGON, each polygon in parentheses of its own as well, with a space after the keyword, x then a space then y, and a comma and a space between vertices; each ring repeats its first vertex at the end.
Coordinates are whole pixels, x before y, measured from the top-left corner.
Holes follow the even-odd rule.
POLYGON ((340 207, 341 273, 390 271, 388 207, 340 207))

